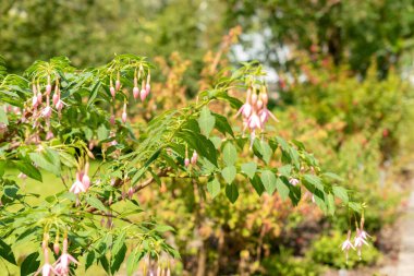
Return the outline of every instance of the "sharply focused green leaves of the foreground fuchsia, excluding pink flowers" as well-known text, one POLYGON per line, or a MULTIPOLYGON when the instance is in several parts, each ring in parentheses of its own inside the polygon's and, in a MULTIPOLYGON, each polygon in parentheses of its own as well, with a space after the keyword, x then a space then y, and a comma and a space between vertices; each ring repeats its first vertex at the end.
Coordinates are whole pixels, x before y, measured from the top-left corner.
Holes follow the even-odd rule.
MULTIPOLYGON (((226 187, 227 197, 234 203, 239 197, 234 180, 242 177, 258 195, 278 191, 282 199, 296 205, 303 193, 308 192, 327 214, 334 213, 334 197, 346 208, 361 211, 361 204, 351 200, 348 190, 332 184, 340 178, 322 171, 299 141, 287 142, 264 132, 260 139, 252 141, 253 149, 246 158, 241 161, 238 157, 248 147, 248 139, 235 133, 227 117, 212 112, 209 105, 223 101, 233 109, 240 108, 242 103, 231 97, 229 89, 244 89, 252 79, 261 77, 256 63, 218 77, 211 88, 198 95, 196 103, 156 116, 138 128, 138 135, 134 125, 120 120, 111 124, 108 112, 119 108, 118 99, 133 105, 129 87, 133 86, 131 80, 137 67, 148 70, 151 65, 142 57, 119 55, 104 67, 76 70, 66 58, 53 58, 49 62, 35 62, 23 76, 4 76, 0 84, 1 103, 5 110, 9 106, 19 109, 2 115, 0 255, 3 259, 16 263, 10 244, 40 244, 45 235, 59 243, 62 233, 69 236, 71 254, 86 257, 86 268, 99 263, 109 274, 120 268, 127 248, 129 274, 144 256, 158 265, 162 264, 165 253, 179 257, 162 238, 170 227, 132 218, 143 212, 132 195, 153 182, 161 184, 161 178, 190 178, 196 183, 206 180, 206 190, 212 197, 226 187), (120 73, 123 91, 112 100, 109 86, 114 72, 120 73), (61 116, 51 117, 50 129, 54 134, 51 140, 44 139, 46 131, 41 125, 33 128, 31 107, 31 80, 48 75, 60 80, 61 97, 68 105, 61 116), (33 135, 40 141, 33 140, 33 135), (108 145, 113 141, 117 143, 108 145), (97 145, 93 149, 95 155, 87 146, 90 142, 97 145), (198 161, 190 167, 183 161, 186 151, 199 155, 198 161), (92 177, 90 189, 78 195, 68 192, 73 171, 85 159, 95 157, 104 159, 92 177), (50 171, 61 178, 62 190, 46 199, 40 195, 40 201, 33 203, 29 199, 39 195, 25 193, 22 184, 4 172, 11 166, 38 181, 42 180, 40 169, 50 171), (293 178, 301 184, 291 184, 293 178), (130 205, 120 211, 123 204, 130 205)), ((38 253, 33 252, 23 262, 22 273, 36 271, 38 264, 38 253)))

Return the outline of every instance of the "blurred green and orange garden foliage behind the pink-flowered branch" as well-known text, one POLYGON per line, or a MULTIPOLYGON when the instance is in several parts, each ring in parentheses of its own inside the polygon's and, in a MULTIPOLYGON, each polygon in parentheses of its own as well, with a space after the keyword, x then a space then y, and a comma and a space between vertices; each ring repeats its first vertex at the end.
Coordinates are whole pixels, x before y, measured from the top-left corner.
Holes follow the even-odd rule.
POLYGON ((10 72, 53 56, 76 67, 112 53, 150 57, 156 97, 145 120, 185 105, 230 64, 264 62, 280 120, 273 130, 305 143, 368 205, 375 247, 346 265, 339 249, 345 213, 324 218, 310 199, 293 208, 248 191, 232 205, 206 196, 206 183, 165 182, 138 200, 176 229, 169 239, 182 254, 178 275, 320 275, 392 259, 389 229, 412 167, 413 29, 412 0, 0 2, 0 55, 10 72))

